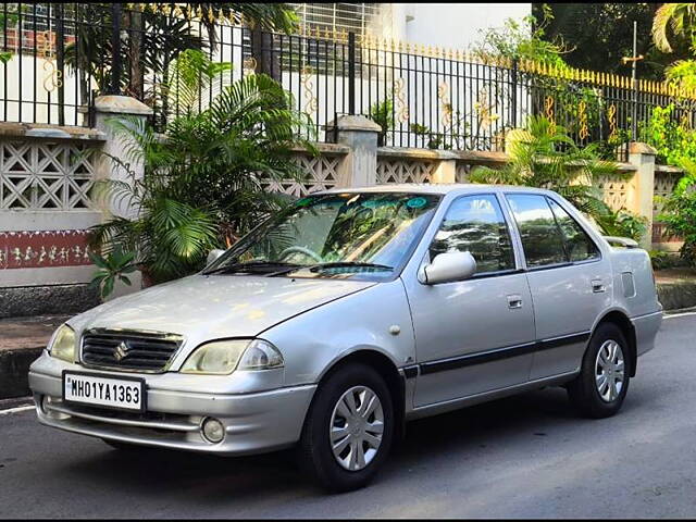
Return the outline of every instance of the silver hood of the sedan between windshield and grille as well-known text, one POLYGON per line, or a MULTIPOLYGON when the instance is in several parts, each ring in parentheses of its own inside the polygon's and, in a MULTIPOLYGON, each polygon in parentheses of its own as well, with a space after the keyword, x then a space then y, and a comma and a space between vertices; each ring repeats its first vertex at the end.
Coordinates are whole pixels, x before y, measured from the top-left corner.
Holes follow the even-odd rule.
POLYGON ((196 274, 105 302, 69 323, 77 331, 156 331, 196 341, 251 337, 373 285, 347 279, 196 274))

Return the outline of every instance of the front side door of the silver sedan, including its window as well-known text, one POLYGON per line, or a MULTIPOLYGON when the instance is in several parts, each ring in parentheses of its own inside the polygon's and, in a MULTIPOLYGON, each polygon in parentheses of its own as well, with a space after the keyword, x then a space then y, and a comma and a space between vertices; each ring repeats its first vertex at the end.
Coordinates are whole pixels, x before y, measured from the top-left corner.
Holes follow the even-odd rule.
POLYGON ((496 195, 458 197, 423 263, 442 252, 469 251, 476 260, 476 273, 465 281, 435 285, 405 278, 420 364, 415 407, 529 378, 534 318, 510 232, 496 195))

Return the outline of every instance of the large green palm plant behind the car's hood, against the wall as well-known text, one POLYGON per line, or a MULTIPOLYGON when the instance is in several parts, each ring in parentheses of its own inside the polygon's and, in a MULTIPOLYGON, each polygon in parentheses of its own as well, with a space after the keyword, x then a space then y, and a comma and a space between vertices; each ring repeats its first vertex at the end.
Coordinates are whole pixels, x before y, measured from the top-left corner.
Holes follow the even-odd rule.
MULTIPOLYGON (((223 87, 209 107, 198 110, 194 78, 214 82, 212 67, 199 51, 179 67, 198 67, 177 88, 190 102, 165 135, 137 119, 110 122, 124 144, 125 158, 114 165, 130 174, 128 182, 97 185, 97 195, 138 210, 134 220, 113 217, 92 227, 90 243, 107 251, 123 246, 161 282, 190 273, 215 246, 229 245, 259 220, 277 211, 284 199, 265 190, 269 182, 300 179, 304 172, 293 159, 293 147, 312 135, 309 116, 294 109, 291 95, 265 75, 250 75, 223 87), (207 78, 207 79, 206 79, 207 78), (187 98, 187 92, 192 98, 187 98), (142 162, 138 179, 130 164, 142 162)), ((222 67, 224 70, 225 67, 222 67)), ((214 82, 216 83, 216 82, 214 82)))

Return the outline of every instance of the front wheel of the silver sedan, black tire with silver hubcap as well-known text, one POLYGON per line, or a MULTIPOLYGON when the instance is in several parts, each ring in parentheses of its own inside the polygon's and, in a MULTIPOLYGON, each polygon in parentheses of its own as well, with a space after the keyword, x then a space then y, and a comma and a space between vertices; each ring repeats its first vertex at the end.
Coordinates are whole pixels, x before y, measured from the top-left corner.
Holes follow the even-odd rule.
POLYGON ((302 427, 298 463, 331 492, 363 487, 389 453, 394 420, 393 398, 384 378, 365 364, 340 366, 316 389, 302 427))

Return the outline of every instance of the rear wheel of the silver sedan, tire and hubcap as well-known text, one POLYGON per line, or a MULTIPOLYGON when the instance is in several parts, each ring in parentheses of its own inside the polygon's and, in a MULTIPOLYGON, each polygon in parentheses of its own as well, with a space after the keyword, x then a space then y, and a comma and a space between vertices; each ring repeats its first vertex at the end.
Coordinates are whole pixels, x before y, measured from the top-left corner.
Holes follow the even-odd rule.
POLYGON ((629 391, 632 362, 621 328, 613 323, 597 326, 585 350, 580 375, 567 386, 571 403, 592 419, 616 414, 629 391))

